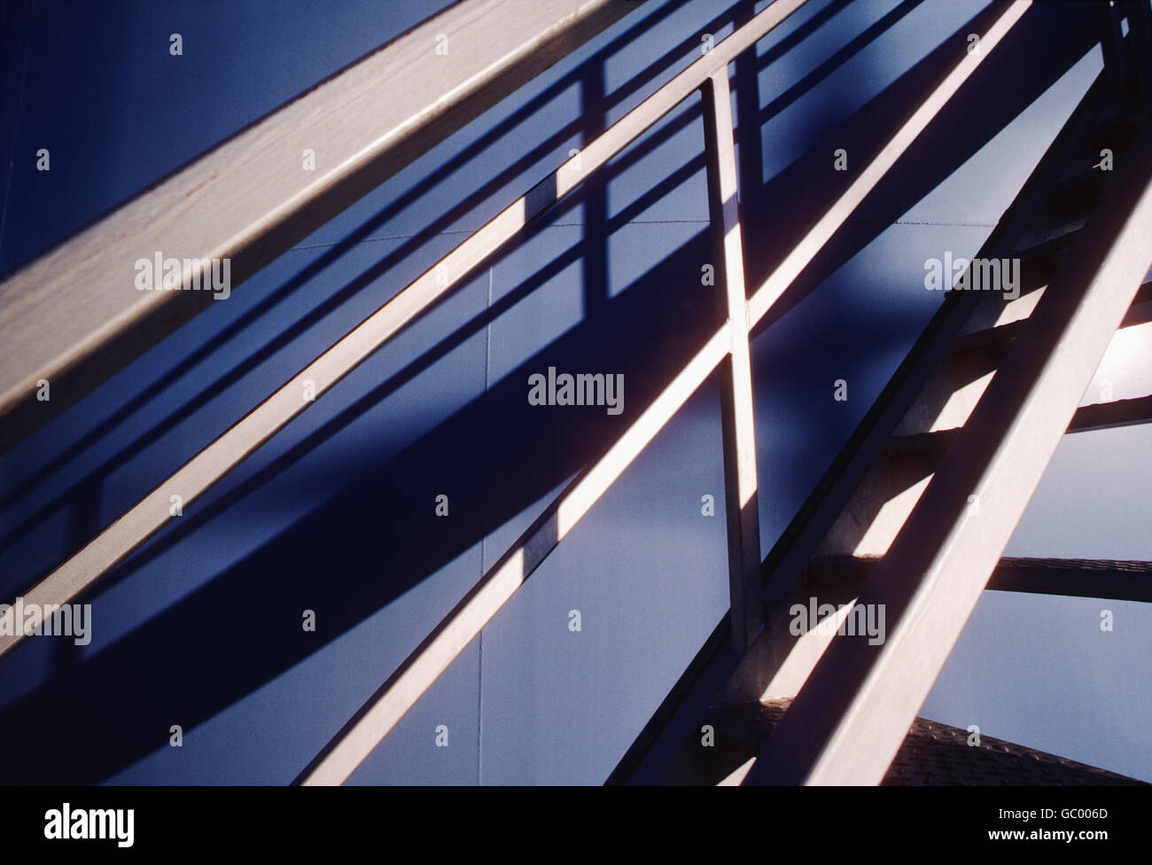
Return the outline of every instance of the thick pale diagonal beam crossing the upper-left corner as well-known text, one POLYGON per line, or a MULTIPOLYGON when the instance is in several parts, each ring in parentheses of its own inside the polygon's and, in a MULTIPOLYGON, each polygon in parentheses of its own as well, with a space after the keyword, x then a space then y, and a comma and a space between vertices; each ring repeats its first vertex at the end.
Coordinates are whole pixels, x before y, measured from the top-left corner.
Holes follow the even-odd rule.
POLYGON ((454 3, 5 279, 0 450, 211 302, 202 290, 137 291, 135 261, 183 260, 168 288, 187 289, 200 286, 191 261, 227 260, 230 291, 630 8, 454 3), (51 401, 36 399, 41 379, 51 401))

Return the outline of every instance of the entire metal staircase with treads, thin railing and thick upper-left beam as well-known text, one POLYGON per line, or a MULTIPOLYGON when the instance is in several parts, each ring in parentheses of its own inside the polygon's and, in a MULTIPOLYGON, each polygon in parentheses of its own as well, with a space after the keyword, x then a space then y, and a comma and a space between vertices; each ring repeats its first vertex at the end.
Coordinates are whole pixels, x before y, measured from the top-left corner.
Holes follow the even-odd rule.
MULTIPOLYGON (((611 783, 880 783, 986 586, 1150 600, 1146 563, 1001 557, 1061 435, 1152 419, 1152 396, 1079 407, 1117 328, 1152 321, 1152 286, 1144 281, 1152 265, 1147 0, 1100 7, 1105 71, 977 256, 1018 259, 1018 296, 1006 299, 1003 290, 947 294, 761 562, 750 333, 1031 6, 1014 0, 990 7, 979 18, 982 52, 957 51, 950 71, 924 85, 907 119, 894 124, 884 145, 771 274, 745 287, 729 65, 755 51, 758 40, 803 5, 775 0, 683 68, 272 390, 32 586, 29 600, 60 605, 88 591, 168 523, 170 494, 179 493, 187 507, 306 410, 312 401, 302 401, 302 385, 310 382, 321 397, 697 92, 704 105, 718 287, 723 286, 721 326, 334 731, 311 764, 300 767, 297 782, 347 781, 715 370, 721 372, 730 612, 611 783), (1109 170, 1104 170, 1104 150, 1109 151, 1109 170), (839 616, 836 628, 796 632, 793 609, 810 602, 817 609, 828 605, 839 616), (856 609, 884 610, 881 640, 847 629, 836 632, 856 609), (761 723, 765 706, 778 711, 771 726, 761 723), (704 727, 720 746, 702 743, 704 727)), ((118 294, 122 286, 107 281, 112 265, 130 260, 132 244, 145 242, 138 241, 139 233, 147 233, 147 249, 167 249, 169 240, 184 236, 187 227, 172 200, 189 198, 198 212, 220 214, 202 220, 191 240, 205 258, 236 256, 242 279, 467 119, 623 17, 628 6, 623 0, 548 0, 532 5, 532 15, 509 29, 505 25, 517 15, 505 0, 460 3, 5 281, 0 299, 32 296, 44 287, 48 294, 65 293, 60 296, 67 299, 73 286, 84 282, 99 303, 92 301, 91 310, 76 314, 75 308, 61 305, 28 312, 12 301, 10 314, 0 313, 0 333, 7 327, 23 334, 29 347, 28 352, 13 351, 17 357, 9 362, 12 369, 0 370, 0 418, 6 422, 0 447, 47 419, 35 415, 32 382, 41 375, 59 373, 65 392, 60 405, 75 402, 195 314, 198 308, 182 299, 188 293, 160 293, 156 298, 134 293, 126 301, 118 294), (399 107, 389 108, 395 116, 388 115, 388 129, 373 131, 364 117, 376 116, 365 105, 384 109, 372 101, 381 100, 377 82, 381 76, 402 82, 412 62, 432 62, 422 46, 445 29, 445 21, 472 28, 473 44, 483 46, 477 68, 456 70, 453 75, 460 79, 445 79, 442 88, 429 84, 406 93, 399 107), (458 116, 439 99, 440 91, 455 94, 458 116), (338 168, 314 182, 300 180, 298 170, 285 173, 290 182, 268 180, 258 198, 241 189, 248 177, 260 179, 245 162, 287 159, 279 152, 281 138, 297 129, 303 130, 300 135, 320 135, 323 130, 309 130, 308 123, 323 120, 331 106, 353 131, 363 134, 363 141, 347 136, 347 158, 333 159, 338 168), (223 180, 217 182, 219 177, 223 180), (145 219, 154 212, 165 213, 165 219, 145 219), (71 319, 79 324, 73 327, 71 319)), ((338 122, 328 126, 342 128, 338 122)), ((296 159, 300 146, 293 142, 283 150, 296 159)), ((965 279, 975 280, 976 267, 969 265, 965 279)), ((0 636, 0 663, 23 637, 0 636)))

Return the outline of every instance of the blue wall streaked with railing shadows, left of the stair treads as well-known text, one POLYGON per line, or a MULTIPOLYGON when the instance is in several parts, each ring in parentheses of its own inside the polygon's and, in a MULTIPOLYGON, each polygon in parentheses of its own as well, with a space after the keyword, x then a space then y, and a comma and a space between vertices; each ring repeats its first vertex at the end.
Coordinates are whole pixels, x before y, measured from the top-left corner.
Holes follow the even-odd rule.
MULTIPOLYGON (((0 270, 442 6, 6 3, 0 270)), ((0 591, 28 589, 761 6, 639 6, 0 458, 0 591)), ((813 0, 741 61, 753 284, 986 6, 813 0)), ((924 261, 979 248, 1098 71, 1083 12, 1047 7, 753 343, 765 551, 939 303, 924 261)), ((86 599, 90 645, 6 658, 0 777, 290 781, 710 334, 706 220, 694 97, 108 575, 86 599), (548 366, 623 373, 623 413, 529 405, 548 366)), ((723 615, 726 562, 710 380, 353 780, 601 782, 723 615)))

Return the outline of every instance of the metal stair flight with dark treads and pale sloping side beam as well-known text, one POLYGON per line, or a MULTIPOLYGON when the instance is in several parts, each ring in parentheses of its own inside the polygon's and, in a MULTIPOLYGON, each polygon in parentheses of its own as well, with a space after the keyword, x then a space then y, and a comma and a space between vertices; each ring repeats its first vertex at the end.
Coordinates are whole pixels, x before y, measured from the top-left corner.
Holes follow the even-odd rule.
POLYGON ((1150 397, 1078 408, 1115 329, 1152 320, 1134 12, 977 257, 1018 258, 1018 297, 949 293, 768 554, 765 631, 706 646, 613 782, 879 783, 983 589, 1152 600, 1147 562, 1000 557, 1061 434, 1152 420, 1150 397), (825 628, 797 633, 809 605, 825 628), (871 605, 882 645, 841 624, 871 605))

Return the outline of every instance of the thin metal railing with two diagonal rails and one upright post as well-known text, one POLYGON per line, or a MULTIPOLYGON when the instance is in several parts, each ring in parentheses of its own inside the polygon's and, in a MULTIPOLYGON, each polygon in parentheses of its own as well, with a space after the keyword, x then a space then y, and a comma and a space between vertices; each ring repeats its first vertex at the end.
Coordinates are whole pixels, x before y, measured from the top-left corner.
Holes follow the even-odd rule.
MULTIPOLYGON (((309 404, 301 397, 305 381, 312 382, 317 396, 331 388, 630 142, 697 90, 703 90, 711 230, 718 272, 722 273, 726 288, 727 320, 604 456, 582 471, 487 570, 297 781, 305 784, 346 781, 718 366, 725 372, 722 417, 730 620, 736 645, 749 645, 763 623, 749 333, 1031 5, 1031 0, 1013 0, 1005 6, 982 36, 982 51, 965 53, 748 297, 743 284, 727 69, 738 54, 805 2, 776 0, 674 76, 584 147, 578 157, 562 164, 513 202, 48 574, 26 593, 26 601, 63 604, 91 586, 167 523, 170 494, 179 493, 184 502, 203 494, 303 411, 309 404)), ((0 655, 10 651, 21 638, 18 633, 0 636, 0 655)))

